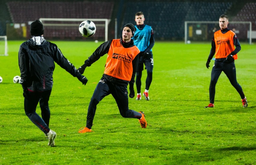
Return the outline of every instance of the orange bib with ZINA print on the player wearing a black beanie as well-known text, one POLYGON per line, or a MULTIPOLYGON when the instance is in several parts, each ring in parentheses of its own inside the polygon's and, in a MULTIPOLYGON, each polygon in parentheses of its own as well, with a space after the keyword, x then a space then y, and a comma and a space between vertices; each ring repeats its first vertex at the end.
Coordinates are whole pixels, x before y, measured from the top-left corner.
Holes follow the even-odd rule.
POLYGON ((104 73, 118 79, 130 81, 133 74, 132 61, 139 52, 137 46, 124 48, 120 43, 120 39, 112 40, 104 73))

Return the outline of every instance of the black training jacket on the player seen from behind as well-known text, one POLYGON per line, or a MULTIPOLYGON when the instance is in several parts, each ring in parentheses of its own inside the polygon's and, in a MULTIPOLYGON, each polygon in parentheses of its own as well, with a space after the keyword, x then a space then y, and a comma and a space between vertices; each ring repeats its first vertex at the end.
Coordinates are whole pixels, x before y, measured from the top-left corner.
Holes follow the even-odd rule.
POLYGON ((37 45, 29 39, 19 49, 20 84, 30 91, 47 91, 53 86, 54 61, 72 76, 80 75, 75 66, 65 58, 57 47, 49 41, 37 45))

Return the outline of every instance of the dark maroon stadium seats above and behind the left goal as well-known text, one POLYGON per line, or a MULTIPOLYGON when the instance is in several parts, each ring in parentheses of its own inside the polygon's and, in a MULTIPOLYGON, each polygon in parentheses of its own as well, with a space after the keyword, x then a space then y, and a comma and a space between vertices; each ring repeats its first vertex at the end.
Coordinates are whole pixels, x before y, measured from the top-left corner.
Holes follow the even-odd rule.
MULTIPOLYGON (((39 18, 104 18, 111 19, 114 3, 99 1, 77 2, 7 2, 13 23, 28 23, 39 18)), ((78 28, 77 28, 78 29, 78 28)), ((29 31, 29 29, 28 29, 29 31)), ((48 38, 64 39, 65 36, 80 37, 79 33, 72 30, 45 30, 48 38), (75 35, 75 36, 74 36, 75 35), (64 37, 64 38, 63 38, 64 37)), ((104 37, 104 28, 98 28, 94 37, 104 37)), ((29 33, 28 33, 29 37, 29 33)))

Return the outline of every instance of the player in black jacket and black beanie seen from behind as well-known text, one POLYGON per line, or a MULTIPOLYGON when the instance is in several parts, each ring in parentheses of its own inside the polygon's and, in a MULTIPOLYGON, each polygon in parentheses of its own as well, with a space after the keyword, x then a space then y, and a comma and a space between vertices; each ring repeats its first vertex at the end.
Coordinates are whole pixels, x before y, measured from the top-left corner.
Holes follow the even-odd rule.
POLYGON ((30 33, 33 37, 20 45, 18 55, 24 109, 29 119, 47 136, 48 146, 54 146, 56 133, 49 128, 48 105, 53 87, 54 62, 77 77, 84 85, 87 79, 62 55, 56 44, 44 39, 44 26, 39 20, 31 23, 30 33), (38 102, 42 118, 35 112, 38 102))

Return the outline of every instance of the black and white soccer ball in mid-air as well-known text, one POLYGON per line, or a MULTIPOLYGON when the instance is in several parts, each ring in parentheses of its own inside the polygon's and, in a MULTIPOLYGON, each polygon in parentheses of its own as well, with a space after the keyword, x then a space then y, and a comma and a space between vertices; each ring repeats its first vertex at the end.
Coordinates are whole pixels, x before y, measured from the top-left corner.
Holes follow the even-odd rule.
POLYGON ((84 37, 91 37, 96 32, 96 26, 92 21, 89 21, 89 20, 83 21, 79 25, 79 32, 84 37))

